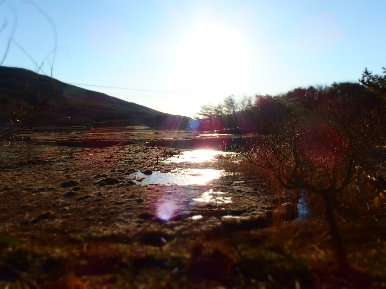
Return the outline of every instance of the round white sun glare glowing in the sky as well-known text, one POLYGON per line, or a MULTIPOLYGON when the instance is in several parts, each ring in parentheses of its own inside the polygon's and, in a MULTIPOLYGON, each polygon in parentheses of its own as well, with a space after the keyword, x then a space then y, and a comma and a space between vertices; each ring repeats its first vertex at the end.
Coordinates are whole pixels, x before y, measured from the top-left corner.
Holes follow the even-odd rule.
POLYGON ((176 49, 171 87, 238 93, 248 82, 246 54, 237 31, 203 22, 176 49))

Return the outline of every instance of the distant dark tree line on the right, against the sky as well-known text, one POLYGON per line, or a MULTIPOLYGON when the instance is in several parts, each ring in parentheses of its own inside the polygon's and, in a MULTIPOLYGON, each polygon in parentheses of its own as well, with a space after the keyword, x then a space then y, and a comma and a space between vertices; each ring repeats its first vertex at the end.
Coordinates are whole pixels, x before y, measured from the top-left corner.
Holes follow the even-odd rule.
MULTIPOLYGON (((386 71, 384 71, 386 72, 386 71)), ((234 131, 237 133, 272 134, 283 123, 300 121, 313 115, 334 117, 341 123, 360 119, 366 114, 384 118, 386 81, 367 69, 358 83, 340 82, 330 86, 296 88, 281 95, 231 95, 217 105, 201 106, 199 131, 234 131)))

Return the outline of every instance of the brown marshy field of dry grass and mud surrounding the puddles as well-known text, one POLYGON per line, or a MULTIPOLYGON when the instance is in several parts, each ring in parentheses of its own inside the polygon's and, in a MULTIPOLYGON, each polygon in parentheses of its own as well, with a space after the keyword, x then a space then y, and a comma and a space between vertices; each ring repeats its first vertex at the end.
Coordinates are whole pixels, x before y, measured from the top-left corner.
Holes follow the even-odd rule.
POLYGON ((322 218, 291 221, 293 207, 259 176, 141 185, 156 172, 224 169, 232 156, 165 163, 187 148, 152 146, 199 137, 40 127, 2 143, 0 287, 386 287, 382 217, 339 223, 352 263, 342 271, 322 218), (201 202, 205 193, 217 201, 201 202))

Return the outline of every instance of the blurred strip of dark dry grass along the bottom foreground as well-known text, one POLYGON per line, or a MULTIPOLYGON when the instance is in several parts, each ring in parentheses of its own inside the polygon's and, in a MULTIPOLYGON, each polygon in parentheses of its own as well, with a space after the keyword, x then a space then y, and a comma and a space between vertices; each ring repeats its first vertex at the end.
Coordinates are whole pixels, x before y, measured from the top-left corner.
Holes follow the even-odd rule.
POLYGON ((21 288, 35 288, 33 284, 41 288, 159 288, 160 284, 167 288, 340 288, 334 285, 339 279, 350 288, 365 288, 360 286, 366 282, 376 288, 386 276, 384 225, 371 219, 339 222, 350 263, 362 276, 359 281, 334 269, 328 226, 318 218, 234 232, 232 240, 226 234, 176 236, 159 245, 145 245, 141 238, 125 240, 130 232, 124 231, 122 238, 111 234, 71 243, 64 241, 68 238, 61 230, 56 234, 63 234, 63 242, 53 242, 53 236, 30 239, 8 227, 0 234, 0 258, 7 264, 0 264, 0 284, 10 288, 21 284, 21 288))

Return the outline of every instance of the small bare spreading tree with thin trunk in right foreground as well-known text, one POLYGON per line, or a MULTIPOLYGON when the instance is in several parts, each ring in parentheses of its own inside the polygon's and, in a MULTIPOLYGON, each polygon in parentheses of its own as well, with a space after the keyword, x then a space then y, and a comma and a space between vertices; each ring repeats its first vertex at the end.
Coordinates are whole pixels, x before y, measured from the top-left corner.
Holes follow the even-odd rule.
POLYGON ((334 255, 342 265, 348 263, 334 218, 334 202, 369 169, 367 152, 381 124, 373 115, 359 116, 360 122, 344 126, 339 118, 291 120, 282 124, 278 134, 256 138, 240 153, 242 160, 266 169, 283 187, 322 196, 334 255))

